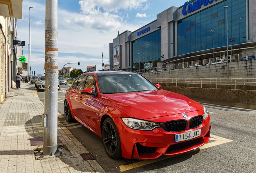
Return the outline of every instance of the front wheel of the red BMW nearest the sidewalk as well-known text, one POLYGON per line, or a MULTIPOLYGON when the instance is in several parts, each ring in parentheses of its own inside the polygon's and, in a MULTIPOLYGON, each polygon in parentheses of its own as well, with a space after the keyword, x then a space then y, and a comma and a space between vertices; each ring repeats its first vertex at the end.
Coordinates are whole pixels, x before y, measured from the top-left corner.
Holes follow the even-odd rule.
POLYGON ((120 159, 122 157, 120 137, 118 129, 111 118, 107 118, 103 122, 101 134, 107 155, 111 159, 120 159))

